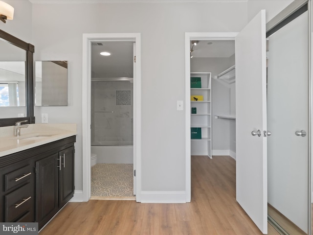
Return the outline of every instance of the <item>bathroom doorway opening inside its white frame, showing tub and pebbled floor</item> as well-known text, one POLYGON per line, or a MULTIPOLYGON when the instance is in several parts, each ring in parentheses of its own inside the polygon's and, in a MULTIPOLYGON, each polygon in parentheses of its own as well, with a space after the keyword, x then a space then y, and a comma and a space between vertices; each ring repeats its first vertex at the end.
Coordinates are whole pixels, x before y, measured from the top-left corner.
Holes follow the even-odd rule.
POLYGON ((91 199, 134 199, 134 43, 91 43, 91 199))

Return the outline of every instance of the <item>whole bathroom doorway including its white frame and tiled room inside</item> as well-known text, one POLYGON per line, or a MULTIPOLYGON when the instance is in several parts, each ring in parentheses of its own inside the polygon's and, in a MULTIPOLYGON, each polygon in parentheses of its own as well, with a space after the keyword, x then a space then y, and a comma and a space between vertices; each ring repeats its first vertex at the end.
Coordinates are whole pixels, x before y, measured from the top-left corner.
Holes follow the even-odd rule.
POLYGON ((83 120, 84 201, 91 196, 138 200, 139 43, 140 34, 136 33, 83 35, 83 113, 87 113, 83 120))

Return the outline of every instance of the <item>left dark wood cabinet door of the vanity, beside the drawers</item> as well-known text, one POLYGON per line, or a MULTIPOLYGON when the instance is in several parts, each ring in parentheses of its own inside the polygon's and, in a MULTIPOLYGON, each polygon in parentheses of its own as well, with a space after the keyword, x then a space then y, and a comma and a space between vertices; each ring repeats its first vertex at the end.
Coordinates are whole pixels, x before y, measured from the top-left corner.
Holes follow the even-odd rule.
POLYGON ((42 228, 59 210, 58 180, 59 154, 53 154, 36 162, 36 221, 42 228))

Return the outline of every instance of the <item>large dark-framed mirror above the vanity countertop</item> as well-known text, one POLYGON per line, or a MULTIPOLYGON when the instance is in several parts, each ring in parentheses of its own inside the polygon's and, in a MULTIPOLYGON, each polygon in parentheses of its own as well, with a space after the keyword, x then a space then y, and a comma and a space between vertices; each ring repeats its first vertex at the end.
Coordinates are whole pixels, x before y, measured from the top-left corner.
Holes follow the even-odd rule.
POLYGON ((0 51, 0 127, 22 120, 35 123, 35 47, 0 30, 0 51))

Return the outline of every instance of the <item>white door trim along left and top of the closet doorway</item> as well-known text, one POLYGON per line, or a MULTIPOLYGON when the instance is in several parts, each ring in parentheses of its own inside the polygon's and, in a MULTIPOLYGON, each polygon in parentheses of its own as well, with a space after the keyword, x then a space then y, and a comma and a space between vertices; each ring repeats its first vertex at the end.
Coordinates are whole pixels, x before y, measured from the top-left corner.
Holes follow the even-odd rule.
POLYGON ((190 149, 190 41, 235 40, 238 33, 185 33, 185 161, 186 202, 191 200, 191 149, 190 149))

